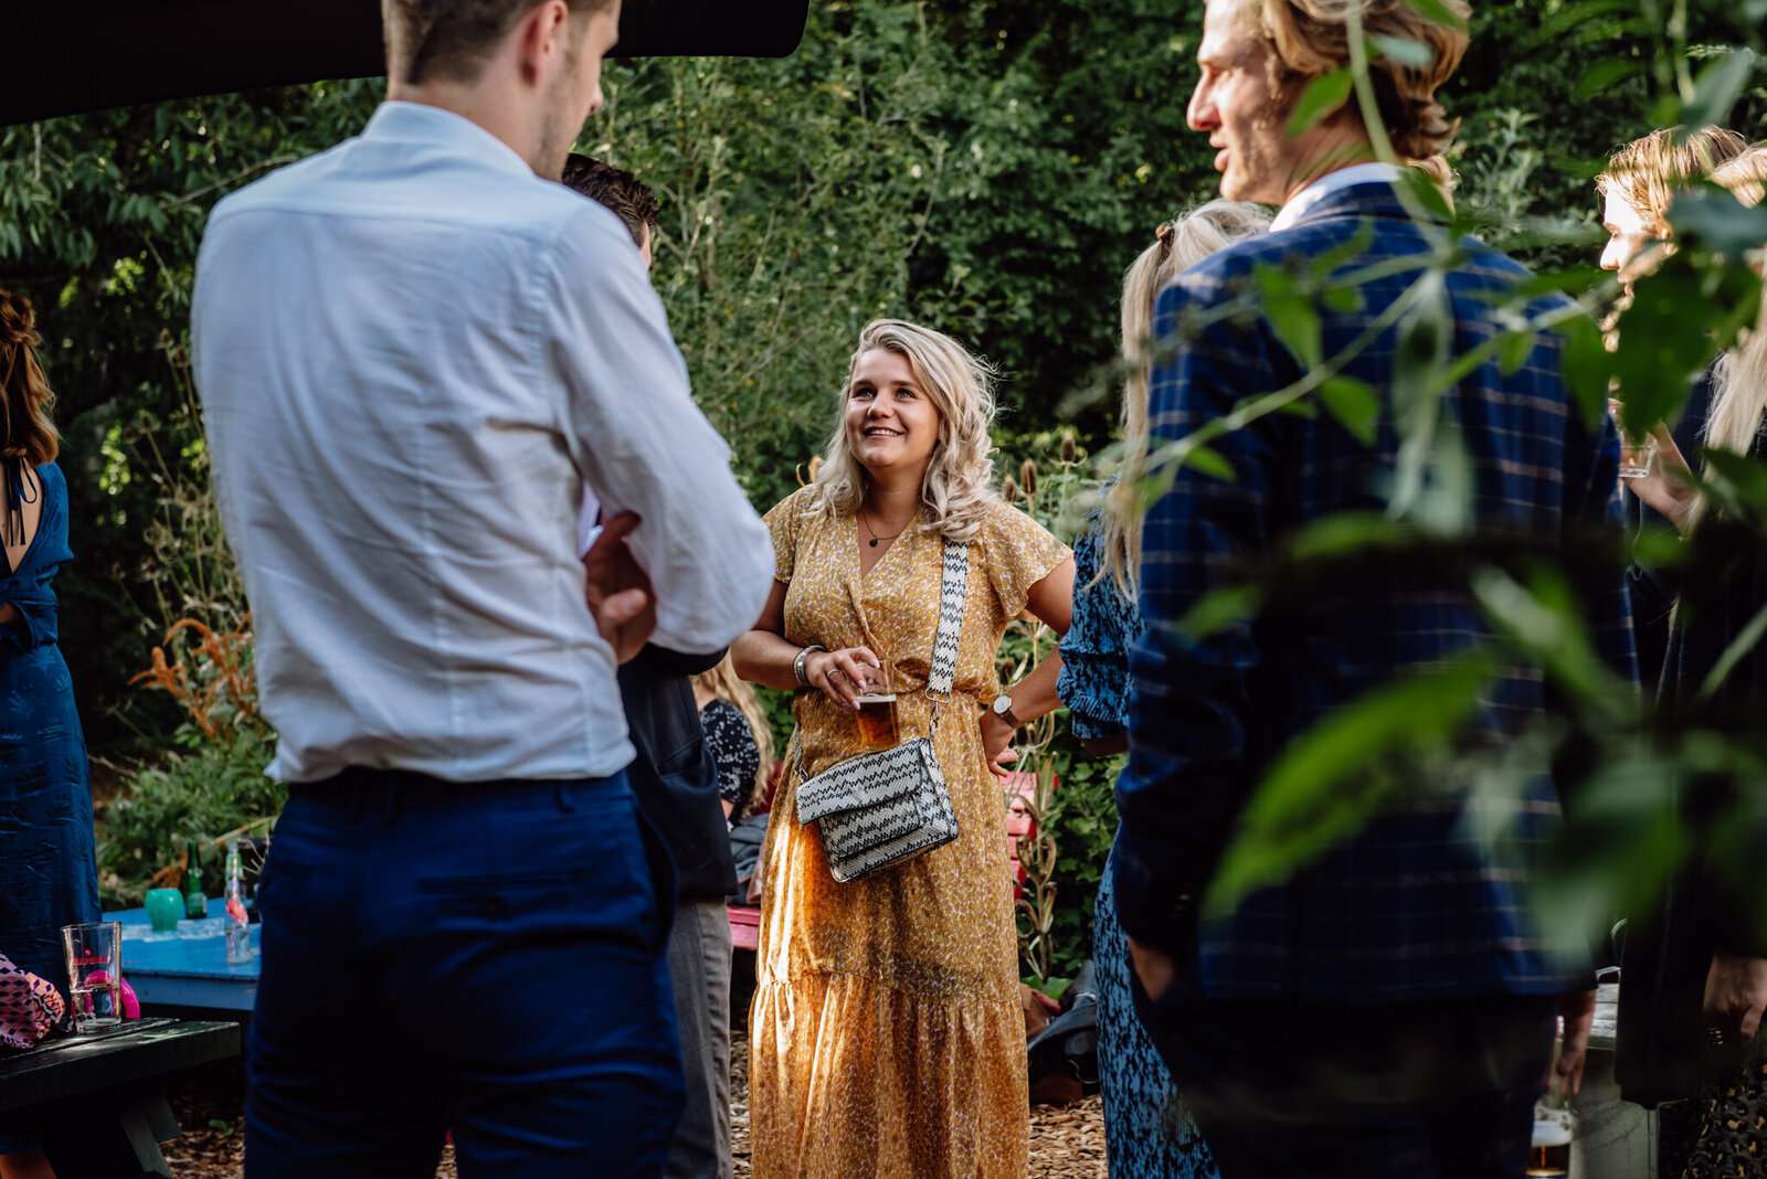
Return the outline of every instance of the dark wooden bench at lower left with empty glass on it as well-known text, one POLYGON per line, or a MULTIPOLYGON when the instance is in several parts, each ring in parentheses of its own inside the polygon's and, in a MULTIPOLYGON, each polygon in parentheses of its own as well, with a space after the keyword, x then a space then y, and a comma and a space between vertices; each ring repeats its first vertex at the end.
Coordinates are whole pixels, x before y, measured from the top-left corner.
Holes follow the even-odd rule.
POLYGON ((0 1059, 0 1133, 42 1144, 57 1179, 168 1174, 178 1137, 164 1084, 239 1055, 239 1024, 129 1020, 0 1059))

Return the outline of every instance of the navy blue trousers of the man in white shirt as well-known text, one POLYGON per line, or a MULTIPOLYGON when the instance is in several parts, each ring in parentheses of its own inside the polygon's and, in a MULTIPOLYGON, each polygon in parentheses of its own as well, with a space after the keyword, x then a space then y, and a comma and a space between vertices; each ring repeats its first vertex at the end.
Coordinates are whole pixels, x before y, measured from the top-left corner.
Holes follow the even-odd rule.
POLYGON ((673 870, 626 775, 297 785, 258 886, 246 1175, 657 1175, 673 870))

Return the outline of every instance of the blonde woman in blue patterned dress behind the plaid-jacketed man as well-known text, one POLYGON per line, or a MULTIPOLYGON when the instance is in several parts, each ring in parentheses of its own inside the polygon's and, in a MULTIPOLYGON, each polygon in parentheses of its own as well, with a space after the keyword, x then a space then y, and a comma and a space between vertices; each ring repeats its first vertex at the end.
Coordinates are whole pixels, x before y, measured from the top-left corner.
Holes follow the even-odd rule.
MULTIPOLYGON (((1124 478, 1108 491, 1074 544, 1074 620, 1062 637, 1058 695, 1074 736, 1099 755, 1129 747, 1129 646, 1141 634, 1134 604, 1140 565, 1136 473, 1147 450, 1147 341, 1154 300, 1180 270, 1270 219, 1255 205, 1209 201, 1159 226, 1157 240, 1129 267, 1122 284, 1122 351, 1131 365, 1122 394, 1124 478)), ((1104 868, 1092 921, 1099 988, 1099 1080, 1110 1174, 1122 1179, 1216 1179, 1214 1160, 1184 1112, 1164 1061, 1141 1031, 1129 994, 1129 941, 1117 923, 1111 868, 1104 868)))

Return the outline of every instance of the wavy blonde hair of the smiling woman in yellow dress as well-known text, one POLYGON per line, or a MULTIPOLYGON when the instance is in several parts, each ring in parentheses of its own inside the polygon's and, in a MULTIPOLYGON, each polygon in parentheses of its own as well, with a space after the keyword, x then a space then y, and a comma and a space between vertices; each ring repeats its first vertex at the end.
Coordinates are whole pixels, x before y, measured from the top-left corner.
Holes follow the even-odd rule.
POLYGON ((908 362, 915 383, 938 411, 938 441, 921 480, 924 531, 949 540, 974 540, 982 517, 1000 503, 993 482, 995 371, 959 342, 903 319, 873 319, 859 334, 859 348, 841 385, 843 411, 822 455, 822 468, 809 484, 809 512, 829 517, 853 515, 866 499, 869 475, 846 441, 845 404, 853 392, 853 372, 868 351, 891 351, 908 362))

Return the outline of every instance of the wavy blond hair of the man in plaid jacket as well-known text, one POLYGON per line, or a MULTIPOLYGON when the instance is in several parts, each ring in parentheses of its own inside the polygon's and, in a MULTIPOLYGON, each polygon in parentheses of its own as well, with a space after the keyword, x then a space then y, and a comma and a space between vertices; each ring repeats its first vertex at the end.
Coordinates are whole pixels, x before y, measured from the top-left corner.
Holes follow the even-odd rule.
POLYGON ((1460 122, 1449 120, 1435 95, 1467 51, 1467 16, 1472 12, 1467 0, 1442 0, 1458 25, 1422 16, 1412 0, 1262 0, 1253 19, 1270 48, 1270 99, 1292 99, 1308 81, 1350 64, 1352 4, 1362 11, 1364 35, 1414 41, 1430 51, 1430 64, 1422 67, 1378 55, 1368 64, 1368 74, 1392 150, 1408 161, 1440 155, 1460 122))

